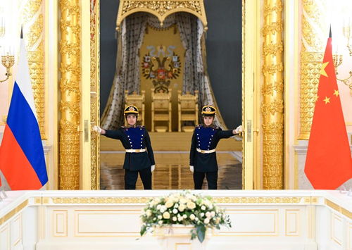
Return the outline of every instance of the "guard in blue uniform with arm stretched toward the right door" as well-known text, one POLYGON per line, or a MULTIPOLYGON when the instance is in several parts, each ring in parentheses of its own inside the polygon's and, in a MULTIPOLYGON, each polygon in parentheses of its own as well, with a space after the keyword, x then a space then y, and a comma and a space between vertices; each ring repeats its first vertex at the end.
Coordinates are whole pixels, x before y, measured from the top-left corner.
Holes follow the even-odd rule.
POLYGON ((229 138, 242 132, 242 127, 236 130, 222 130, 213 125, 216 108, 203 106, 201 115, 203 124, 194 129, 191 151, 189 154, 189 170, 193 172, 194 189, 201 189, 204 177, 208 181, 208 189, 218 189, 218 162, 215 149, 222 138, 229 138))

